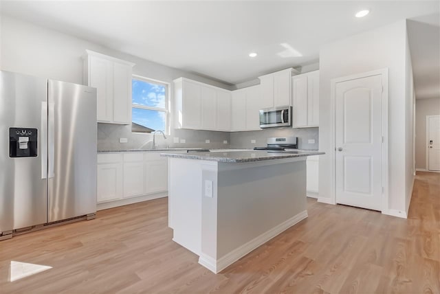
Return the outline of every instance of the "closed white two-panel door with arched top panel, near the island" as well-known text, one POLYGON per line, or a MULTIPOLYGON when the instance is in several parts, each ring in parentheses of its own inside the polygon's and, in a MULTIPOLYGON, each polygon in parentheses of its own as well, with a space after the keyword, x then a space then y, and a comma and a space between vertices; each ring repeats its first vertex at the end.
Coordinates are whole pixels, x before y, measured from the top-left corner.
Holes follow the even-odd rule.
POLYGON ((382 210, 382 75, 336 83, 336 203, 382 210))

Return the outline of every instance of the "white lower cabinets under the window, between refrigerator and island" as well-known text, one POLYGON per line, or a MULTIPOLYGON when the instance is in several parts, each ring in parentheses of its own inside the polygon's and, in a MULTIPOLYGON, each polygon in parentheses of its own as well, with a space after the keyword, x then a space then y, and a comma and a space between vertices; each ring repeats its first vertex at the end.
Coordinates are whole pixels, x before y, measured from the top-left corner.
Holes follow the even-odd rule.
POLYGON ((166 196, 168 159, 161 152, 98 154, 98 210, 166 196))

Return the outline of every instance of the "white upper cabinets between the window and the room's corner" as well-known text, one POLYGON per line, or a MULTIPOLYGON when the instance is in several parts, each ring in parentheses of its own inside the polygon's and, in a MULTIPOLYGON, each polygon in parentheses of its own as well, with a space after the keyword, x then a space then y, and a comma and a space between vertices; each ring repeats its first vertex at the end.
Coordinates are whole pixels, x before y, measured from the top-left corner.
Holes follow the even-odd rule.
POLYGON ((174 98, 177 128, 230 131, 230 91, 178 78, 174 80, 174 98))

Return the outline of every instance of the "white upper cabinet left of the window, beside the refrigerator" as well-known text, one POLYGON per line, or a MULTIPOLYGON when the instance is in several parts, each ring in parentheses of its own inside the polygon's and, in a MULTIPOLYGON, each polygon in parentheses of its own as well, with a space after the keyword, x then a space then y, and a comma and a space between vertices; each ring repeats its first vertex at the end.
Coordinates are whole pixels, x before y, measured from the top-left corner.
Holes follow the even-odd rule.
POLYGON ((131 124, 131 74, 134 63, 86 50, 85 84, 97 89, 97 120, 131 124))

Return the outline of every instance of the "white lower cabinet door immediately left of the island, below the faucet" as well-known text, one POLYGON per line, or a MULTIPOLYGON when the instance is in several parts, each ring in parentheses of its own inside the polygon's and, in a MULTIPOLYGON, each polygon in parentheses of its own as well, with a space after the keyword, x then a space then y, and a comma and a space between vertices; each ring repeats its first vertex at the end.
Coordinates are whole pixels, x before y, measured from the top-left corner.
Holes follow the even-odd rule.
POLYGON ((168 191, 168 159, 146 159, 145 194, 168 191))

